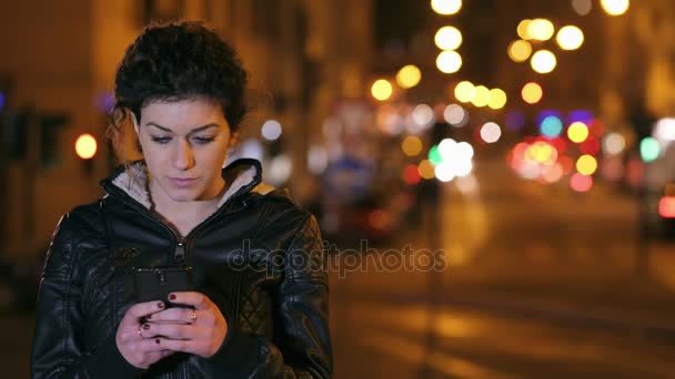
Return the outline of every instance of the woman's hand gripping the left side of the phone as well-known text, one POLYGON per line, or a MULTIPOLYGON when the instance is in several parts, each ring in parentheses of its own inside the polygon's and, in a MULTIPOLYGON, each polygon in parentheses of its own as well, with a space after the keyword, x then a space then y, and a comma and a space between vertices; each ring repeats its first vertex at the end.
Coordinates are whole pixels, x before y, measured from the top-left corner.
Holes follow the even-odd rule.
MULTIPOLYGON (((118 327, 115 344, 118 350, 129 363, 145 369, 158 360, 173 354, 159 344, 154 338, 143 337, 143 317, 151 318, 153 314, 164 309, 162 301, 139 303, 127 309, 124 318, 118 327)), ((145 324, 147 325, 147 324, 145 324)))

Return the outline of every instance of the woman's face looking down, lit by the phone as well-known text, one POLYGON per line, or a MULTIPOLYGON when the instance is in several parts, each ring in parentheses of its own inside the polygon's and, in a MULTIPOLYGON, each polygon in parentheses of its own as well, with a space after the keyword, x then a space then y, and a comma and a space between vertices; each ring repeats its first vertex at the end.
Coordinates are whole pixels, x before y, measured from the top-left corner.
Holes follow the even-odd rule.
POLYGON ((218 103, 152 102, 141 110, 137 133, 155 190, 175 202, 210 199, 221 191, 231 136, 218 103))

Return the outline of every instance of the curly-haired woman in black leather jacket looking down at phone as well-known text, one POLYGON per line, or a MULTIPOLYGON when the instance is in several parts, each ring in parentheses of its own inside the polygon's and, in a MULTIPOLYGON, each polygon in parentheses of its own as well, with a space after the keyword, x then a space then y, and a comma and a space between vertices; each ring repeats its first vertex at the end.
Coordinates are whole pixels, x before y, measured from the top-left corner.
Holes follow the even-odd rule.
POLYGON ((129 47, 113 142, 124 157, 137 145, 142 160, 57 227, 34 378, 330 377, 314 217, 261 184, 259 162, 222 168, 245 82, 234 51, 201 23, 150 27, 129 47), (137 269, 165 266, 191 267, 194 290, 139 303, 137 269))

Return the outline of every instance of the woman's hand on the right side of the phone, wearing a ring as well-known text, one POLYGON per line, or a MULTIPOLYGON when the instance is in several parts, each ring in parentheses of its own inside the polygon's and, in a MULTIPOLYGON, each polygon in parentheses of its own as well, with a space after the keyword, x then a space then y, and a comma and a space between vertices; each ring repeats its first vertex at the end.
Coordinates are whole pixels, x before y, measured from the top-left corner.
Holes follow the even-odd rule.
POLYGON ((228 335, 228 321, 218 306, 194 291, 172 293, 169 301, 194 309, 169 308, 153 314, 143 336, 152 336, 163 349, 212 357, 228 335))

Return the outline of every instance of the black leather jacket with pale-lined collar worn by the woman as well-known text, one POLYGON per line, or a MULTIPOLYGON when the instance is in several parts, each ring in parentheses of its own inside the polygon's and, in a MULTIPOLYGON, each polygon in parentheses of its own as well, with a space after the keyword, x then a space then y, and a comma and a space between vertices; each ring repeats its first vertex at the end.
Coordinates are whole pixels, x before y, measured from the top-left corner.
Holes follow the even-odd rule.
MULTIPOLYGON (((137 166, 142 163, 137 163, 137 166)), ((282 191, 252 190, 258 161, 223 170, 219 211, 180 237, 124 190, 122 168, 99 202, 64 215, 47 255, 31 354, 33 378, 329 378, 328 280, 314 217, 282 191), (228 335, 210 358, 175 354, 128 363, 117 327, 134 303, 134 267, 184 263, 219 306, 228 335)), ((144 186, 143 186, 144 187, 144 186)), ((139 197, 140 196, 140 197, 139 197)))

